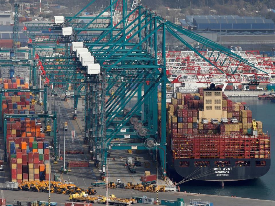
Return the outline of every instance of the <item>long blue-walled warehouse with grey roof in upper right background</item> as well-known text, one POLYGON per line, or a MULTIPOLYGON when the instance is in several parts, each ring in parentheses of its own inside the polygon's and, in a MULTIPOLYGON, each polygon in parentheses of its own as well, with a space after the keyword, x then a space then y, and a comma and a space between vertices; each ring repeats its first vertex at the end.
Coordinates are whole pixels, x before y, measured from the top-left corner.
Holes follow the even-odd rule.
POLYGON ((187 15, 185 20, 180 21, 182 27, 190 30, 204 30, 204 31, 223 31, 223 32, 256 32, 261 31, 265 33, 274 32, 275 24, 271 19, 264 17, 240 17, 232 16, 190 16, 187 15))

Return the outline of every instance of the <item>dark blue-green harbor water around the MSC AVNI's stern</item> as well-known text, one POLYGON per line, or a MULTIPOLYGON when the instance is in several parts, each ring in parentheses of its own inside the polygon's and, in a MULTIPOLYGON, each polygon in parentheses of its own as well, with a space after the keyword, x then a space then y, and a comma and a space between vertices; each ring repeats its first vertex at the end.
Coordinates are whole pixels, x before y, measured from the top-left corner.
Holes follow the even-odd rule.
MULTIPOLYGON (((188 181, 180 185, 181 192, 209 195, 236 196, 255 199, 275 200, 275 103, 270 100, 258 100, 255 97, 230 98, 234 102, 246 102, 252 110, 253 118, 263 122, 263 131, 271 134, 270 157, 271 167, 268 173, 258 179, 221 183, 210 181, 188 181)), ((178 179, 177 181, 180 181, 178 179)))

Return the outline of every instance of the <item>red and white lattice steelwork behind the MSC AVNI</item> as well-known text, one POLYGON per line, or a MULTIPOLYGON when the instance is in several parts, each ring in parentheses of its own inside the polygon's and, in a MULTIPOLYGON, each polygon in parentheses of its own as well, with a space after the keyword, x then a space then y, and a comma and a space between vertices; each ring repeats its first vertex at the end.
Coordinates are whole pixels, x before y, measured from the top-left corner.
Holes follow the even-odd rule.
POLYGON ((270 57, 261 56, 259 51, 234 51, 258 69, 229 58, 219 51, 200 51, 200 53, 212 64, 194 51, 166 51, 166 68, 170 82, 275 82, 275 61, 270 57), (216 61, 217 57, 219 61, 216 61))

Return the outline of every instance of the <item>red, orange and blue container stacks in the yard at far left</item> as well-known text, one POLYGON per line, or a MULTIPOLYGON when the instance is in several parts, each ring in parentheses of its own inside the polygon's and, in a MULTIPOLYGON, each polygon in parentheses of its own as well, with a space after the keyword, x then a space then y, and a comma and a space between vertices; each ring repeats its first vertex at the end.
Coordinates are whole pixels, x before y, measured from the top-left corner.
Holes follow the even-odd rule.
MULTIPOLYGON (((25 78, 0 79, 0 88, 28 89, 25 78)), ((31 92, 5 92, 2 96, 3 114, 35 114, 31 92)), ((3 127, 2 127, 3 128, 3 127)), ((10 166, 11 181, 49 179, 49 142, 41 132, 39 118, 7 118, 7 163, 10 166)))

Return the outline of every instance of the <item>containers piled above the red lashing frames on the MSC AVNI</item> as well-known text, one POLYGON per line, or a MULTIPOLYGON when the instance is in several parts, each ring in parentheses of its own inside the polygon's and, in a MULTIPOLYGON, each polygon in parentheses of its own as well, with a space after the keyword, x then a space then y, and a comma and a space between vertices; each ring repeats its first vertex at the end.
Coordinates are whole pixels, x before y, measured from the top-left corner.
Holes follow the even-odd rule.
MULTIPOLYGON (((203 88, 198 89, 199 93, 182 94, 176 93, 176 98, 171 98, 171 103, 166 103, 166 127, 168 135, 196 136, 201 134, 252 134, 252 112, 245 110, 245 103, 232 102, 223 94, 223 110, 227 111, 228 123, 202 124, 198 120, 199 110, 203 110, 203 88), (231 123, 231 118, 238 120, 237 124, 231 123)), ((161 131, 161 103, 158 102, 158 131, 161 131)), ((220 121, 220 120, 219 120, 220 121)), ((259 122, 258 134, 262 134, 261 122, 259 122)))

